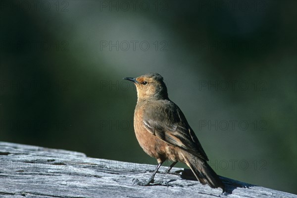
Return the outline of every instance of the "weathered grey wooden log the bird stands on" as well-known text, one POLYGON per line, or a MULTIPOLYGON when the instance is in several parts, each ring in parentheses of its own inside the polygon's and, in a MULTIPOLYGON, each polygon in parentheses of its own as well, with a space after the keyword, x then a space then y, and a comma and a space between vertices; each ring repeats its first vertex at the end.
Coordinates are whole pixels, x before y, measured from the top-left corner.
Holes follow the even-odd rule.
POLYGON ((189 169, 161 167, 151 186, 154 165, 87 157, 84 153, 0 142, 0 197, 5 198, 296 198, 296 195, 221 177, 228 194, 196 181, 189 169), (150 172, 148 171, 150 170, 150 172), (168 186, 167 186, 168 184, 168 186))

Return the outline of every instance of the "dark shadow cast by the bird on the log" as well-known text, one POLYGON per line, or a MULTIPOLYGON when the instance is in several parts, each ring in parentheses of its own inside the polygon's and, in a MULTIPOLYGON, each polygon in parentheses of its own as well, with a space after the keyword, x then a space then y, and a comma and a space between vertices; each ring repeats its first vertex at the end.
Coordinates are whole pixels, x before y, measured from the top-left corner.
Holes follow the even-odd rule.
MULTIPOLYGON (((192 170, 190 170, 190 169, 175 171, 175 173, 180 174, 182 179, 197 181, 195 175, 193 174, 192 170)), ((219 178, 222 180, 223 184, 225 185, 225 190, 223 191, 224 195, 232 194, 232 192, 237 188, 247 188, 248 189, 250 187, 255 186, 255 185, 247 184, 244 182, 240 182, 240 181, 229 179, 229 178, 222 177, 222 176, 219 176, 219 178)))

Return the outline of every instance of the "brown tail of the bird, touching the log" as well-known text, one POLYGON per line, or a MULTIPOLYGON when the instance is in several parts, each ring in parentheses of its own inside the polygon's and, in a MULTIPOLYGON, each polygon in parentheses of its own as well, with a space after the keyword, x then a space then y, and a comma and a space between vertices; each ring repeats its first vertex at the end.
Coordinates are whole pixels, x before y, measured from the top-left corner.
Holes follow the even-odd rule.
POLYGON ((197 180, 201 184, 208 184, 211 188, 221 188, 225 191, 224 184, 219 176, 212 170, 204 159, 201 159, 191 153, 184 151, 186 164, 191 168, 197 180))

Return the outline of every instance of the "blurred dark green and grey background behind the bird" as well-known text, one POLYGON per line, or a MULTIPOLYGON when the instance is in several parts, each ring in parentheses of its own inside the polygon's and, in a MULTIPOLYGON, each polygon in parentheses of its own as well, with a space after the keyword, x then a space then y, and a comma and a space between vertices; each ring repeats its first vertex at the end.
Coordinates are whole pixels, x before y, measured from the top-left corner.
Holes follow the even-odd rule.
POLYGON ((297 194, 296 27, 294 0, 1 1, 0 140, 156 164, 122 78, 158 72, 219 175, 297 194))

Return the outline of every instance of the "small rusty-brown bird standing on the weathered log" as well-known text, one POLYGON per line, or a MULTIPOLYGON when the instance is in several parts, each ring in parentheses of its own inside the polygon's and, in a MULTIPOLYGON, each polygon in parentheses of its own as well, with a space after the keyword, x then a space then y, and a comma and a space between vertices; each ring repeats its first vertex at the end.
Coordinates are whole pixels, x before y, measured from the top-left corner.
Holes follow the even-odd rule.
POLYGON ((179 161, 187 164, 197 180, 212 188, 224 185, 207 164, 208 158, 183 112, 167 94, 163 77, 147 73, 137 78, 123 78, 134 82, 137 88, 137 104, 134 112, 134 130, 140 146, 158 165, 147 182, 148 186, 165 160, 173 161, 167 172, 179 161))

